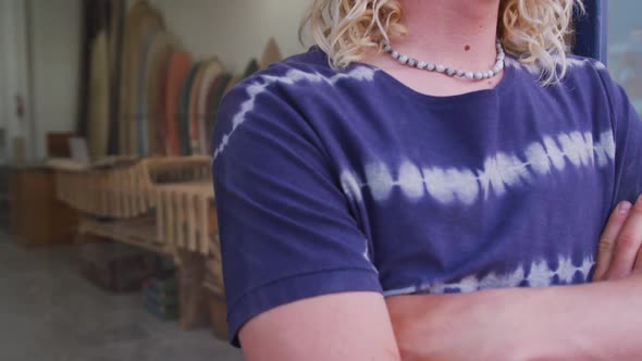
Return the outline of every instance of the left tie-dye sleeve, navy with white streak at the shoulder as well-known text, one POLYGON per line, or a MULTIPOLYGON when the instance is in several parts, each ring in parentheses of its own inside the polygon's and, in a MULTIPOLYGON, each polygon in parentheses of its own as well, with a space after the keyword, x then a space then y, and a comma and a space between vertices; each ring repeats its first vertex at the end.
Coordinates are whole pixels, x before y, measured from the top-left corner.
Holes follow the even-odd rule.
POLYGON ((213 135, 227 324, 305 298, 381 292, 368 241, 314 128, 269 86, 237 86, 213 135))

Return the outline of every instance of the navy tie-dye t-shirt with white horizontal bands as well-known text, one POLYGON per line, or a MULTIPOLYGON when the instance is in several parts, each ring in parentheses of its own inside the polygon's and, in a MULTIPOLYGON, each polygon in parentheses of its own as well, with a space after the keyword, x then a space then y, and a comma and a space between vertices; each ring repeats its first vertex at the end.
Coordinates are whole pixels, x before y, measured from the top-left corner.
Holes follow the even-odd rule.
POLYGON ((609 211, 642 190, 642 123, 601 63, 539 79, 508 59, 494 89, 432 97, 312 48, 237 85, 213 139, 233 340, 319 295, 590 281, 609 211))

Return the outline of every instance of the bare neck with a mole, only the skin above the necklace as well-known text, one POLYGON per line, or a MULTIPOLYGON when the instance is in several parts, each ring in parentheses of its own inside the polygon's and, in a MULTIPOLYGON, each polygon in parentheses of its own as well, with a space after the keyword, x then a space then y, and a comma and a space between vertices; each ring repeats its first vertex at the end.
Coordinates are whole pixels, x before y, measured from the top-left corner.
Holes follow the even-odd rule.
POLYGON ((400 0, 408 36, 395 50, 446 66, 483 71, 495 59, 499 0, 400 0))

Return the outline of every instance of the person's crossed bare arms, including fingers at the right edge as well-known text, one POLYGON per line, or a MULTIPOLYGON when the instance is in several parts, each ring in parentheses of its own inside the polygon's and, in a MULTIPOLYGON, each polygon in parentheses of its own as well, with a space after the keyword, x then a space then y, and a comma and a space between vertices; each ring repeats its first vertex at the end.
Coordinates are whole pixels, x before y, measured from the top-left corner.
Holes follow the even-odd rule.
MULTIPOLYGON (((622 207, 625 206, 625 207, 622 207)), ((595 283, 467 295, 338 294, 246 324, 247 360, 642 359, 642 201, 612 214, 595 283)))

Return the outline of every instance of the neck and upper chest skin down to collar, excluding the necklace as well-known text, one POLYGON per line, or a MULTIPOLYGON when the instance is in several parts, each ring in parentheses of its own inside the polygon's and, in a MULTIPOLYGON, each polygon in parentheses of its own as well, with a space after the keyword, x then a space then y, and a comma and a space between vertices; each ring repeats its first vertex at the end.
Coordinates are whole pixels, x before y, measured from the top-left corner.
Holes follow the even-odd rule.
MULTIPOLYGON (((395 50, 419 61, 464 71, 487 71, 495 64, 495 39, 501 0, 399 0, 408 35, 391 39, 395 50)), ((367 54, 406 86, 427 95, 453 96, 495 87, 503 78, 470 82, 400 65, 386 53, 367 54)))

